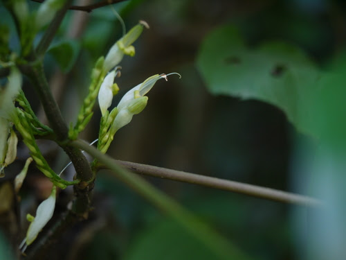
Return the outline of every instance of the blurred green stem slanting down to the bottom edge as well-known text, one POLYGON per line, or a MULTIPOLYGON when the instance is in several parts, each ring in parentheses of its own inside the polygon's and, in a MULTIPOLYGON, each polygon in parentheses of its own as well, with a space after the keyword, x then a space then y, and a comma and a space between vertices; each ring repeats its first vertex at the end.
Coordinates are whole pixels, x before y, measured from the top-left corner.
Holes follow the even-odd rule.
POLYGON ((219 257, 218 259, 248 259, 234 245, 226 241, 226 239, 211 229, 206 223, 203 223, 203 221, 191 214, 190 211, 184 209, 172 198, 152 186, 152 184, 146 182, 143 177, 118 166, 114 159, 100 153, 99 150, 93 146, 89 146, 84 141, 72 141, 71 145, 86 151, 86 153, 98 159, 98 162, 107 166, 119 180, 125 182, 125 184, 134 189, 143 198, 152 202, 158 209, 165 211, 166 214, 174 218, 190 234, 200 239, 210 250, 215 252, 217 257, 219 257))

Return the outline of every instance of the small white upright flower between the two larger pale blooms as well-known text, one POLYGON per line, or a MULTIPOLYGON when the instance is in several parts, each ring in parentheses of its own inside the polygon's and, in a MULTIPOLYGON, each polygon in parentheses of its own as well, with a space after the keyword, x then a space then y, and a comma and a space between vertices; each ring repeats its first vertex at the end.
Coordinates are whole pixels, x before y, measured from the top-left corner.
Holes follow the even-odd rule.
POLYGON ((113 84, 114 78, 116 78, 116 70, 107 74, 102 82, 100 91, 98 92, 98 105, 100 105, 102 116, 104 116, 108 107, 111 106, 113 95, 116 94, 119 89, 118 85, 113 84))

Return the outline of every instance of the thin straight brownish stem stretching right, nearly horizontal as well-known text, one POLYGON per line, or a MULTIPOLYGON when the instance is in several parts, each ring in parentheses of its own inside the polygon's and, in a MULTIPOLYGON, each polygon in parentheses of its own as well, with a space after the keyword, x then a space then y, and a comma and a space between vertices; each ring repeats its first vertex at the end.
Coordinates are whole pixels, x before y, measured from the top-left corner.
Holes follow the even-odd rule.
POLYGON ((304 205, 309 207, 322 206, 322 201, 320 200, 294 193, 289 193, 286 191, 278 191, 276 189, 259 187, 252 184, 234 182, 231 180, 223 180, 217 177, 210 177, 194 173, 186 173, 184 171, 176 171, 169 168, 161 168, 146 164, 136 164, 134 162, 124 162, 120 160, 116 160, 116 162, 119 165, 128 168, 130 171, 134 171, 135 173, 140 173, 143 175, 160 177, 168 180, 176 180, 179 182, 188 182, 192 184, 211 187, 214 189, 233 191, 236 193, 246 194, 248 196, 264 198, 266 200, 274 200, 277 202, 304 205))

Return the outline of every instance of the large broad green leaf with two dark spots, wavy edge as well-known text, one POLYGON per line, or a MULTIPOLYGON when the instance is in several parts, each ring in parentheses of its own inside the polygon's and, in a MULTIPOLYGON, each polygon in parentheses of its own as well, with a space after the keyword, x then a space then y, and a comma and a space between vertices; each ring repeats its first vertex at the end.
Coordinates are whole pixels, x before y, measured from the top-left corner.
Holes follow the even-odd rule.
POLYGON ((235 28, 224 26, 206 37, 197 67, 212 94, 270 103, 298 130, 316 135, 306 117, 319 73, 297 47, 266 42, 248 49, 235 28))

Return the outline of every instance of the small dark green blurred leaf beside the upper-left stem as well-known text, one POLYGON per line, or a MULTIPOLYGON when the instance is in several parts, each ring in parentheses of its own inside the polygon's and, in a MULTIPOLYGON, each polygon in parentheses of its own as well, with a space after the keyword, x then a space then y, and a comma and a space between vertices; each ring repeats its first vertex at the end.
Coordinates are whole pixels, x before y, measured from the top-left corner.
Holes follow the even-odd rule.
POLYGON ((80 44, 75 40, 64 40, 52 46, 48 53, 53 56, 62 71, 71 71, 80 53, 80 44))

